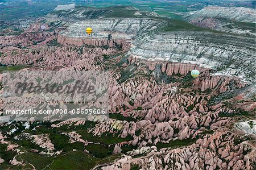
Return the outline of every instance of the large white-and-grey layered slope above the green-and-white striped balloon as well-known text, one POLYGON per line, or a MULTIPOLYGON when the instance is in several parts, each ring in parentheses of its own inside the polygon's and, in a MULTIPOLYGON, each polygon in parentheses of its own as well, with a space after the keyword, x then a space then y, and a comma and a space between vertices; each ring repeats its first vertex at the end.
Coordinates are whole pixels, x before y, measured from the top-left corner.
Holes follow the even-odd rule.
POLYGON ((130 54, 144 60, 198 64, 213 69, 215 74, 254 81, 254 44, 253 38, 209 32, 176 32, 139 39, 133 43, 130 54))

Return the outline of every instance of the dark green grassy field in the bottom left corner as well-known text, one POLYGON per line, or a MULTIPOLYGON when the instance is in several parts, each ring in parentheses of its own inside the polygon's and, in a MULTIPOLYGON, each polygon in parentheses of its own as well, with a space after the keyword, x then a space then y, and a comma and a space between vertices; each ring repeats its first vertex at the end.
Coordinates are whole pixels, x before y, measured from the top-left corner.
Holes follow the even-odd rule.
MULTIPOLYGON (((95 147, 93 147, 95 148, 95 147)), ((92 149, 93 149, 92 148, 92 149)), ((11 160, 16 154, 9 155, 3 154, 6 147, 1 146, 1 154, 0 156, 3 157, 5 160, 11 160)), ((6 153, 6 151, 5 151, 6 153)), ((105 156, 105 155, 104 155, 105 156)), ((85 154, 83 151, 70 151, 66 154, 61 154, 58 156, 50 157, 35 154, 33 152, 26 152, 24 154, 20 154, 16 156, 16 160, 23 161, 26 164, 24 167, 22 166, 11 166, 6 161, 0 165, 1 169, 24 169, 29 168, 32 169, 32 165, 36 169, 92 169, 95 165, 102 165, 113 163, 115 159, 119 159, 122 155, 106 155, 104 159, 99 159, 94 157, 90 154, 85 154)))

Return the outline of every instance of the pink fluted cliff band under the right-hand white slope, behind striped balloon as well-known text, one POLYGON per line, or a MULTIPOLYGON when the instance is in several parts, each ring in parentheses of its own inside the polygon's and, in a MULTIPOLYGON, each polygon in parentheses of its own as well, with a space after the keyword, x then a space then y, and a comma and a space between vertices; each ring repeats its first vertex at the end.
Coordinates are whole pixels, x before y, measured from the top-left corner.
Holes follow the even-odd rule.
MULTIPOLYGON (((146 67, 150 71, 156 71, 158 68, 162 73, 166 73, 167 76, 176 76, 181 74, 186 76, 193 69, 200 70, 200 80, 194 82, 194 86, 200 88, 201 92, 207 89, 219 89, 220 93, 224 93, 227 90, 232 90, 236 88, 243 88, 247 83, 242 82, 236 77, 222 77, 222 76, 210 76, 210 69, 200 67, 199 64, 188 64, 188 63, 170 63, 168 61, 147 61, 140 60, 134 57, 129 58, 130 64, 136 64, 138 67, 146 67), (234 82, 235 86, 230 89, 229 83, 234 82)), ((159 73, 159 72, 158 72, 159 73)))

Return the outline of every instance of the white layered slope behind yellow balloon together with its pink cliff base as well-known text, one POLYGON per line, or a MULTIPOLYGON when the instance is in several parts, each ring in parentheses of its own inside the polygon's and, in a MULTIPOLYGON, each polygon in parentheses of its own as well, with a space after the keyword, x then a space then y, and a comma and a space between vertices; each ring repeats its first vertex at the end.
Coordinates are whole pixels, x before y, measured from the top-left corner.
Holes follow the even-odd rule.
POLYGON ((64 45, 94 45, 119 47, 127 49, 128 43, 137 36, 143 36, 164 23, 154 19, 97 19, 84 20, 73 23, 67 30, 61 32, 58 42, 64 45), (92 34, 85 32, 87 27, 92 27, 92 34))

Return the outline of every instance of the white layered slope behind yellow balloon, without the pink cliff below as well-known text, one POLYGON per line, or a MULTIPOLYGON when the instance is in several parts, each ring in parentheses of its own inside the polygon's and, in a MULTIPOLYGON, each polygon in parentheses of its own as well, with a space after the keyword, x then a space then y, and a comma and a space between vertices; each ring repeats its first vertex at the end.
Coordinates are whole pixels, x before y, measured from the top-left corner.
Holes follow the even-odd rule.
POLYGON ((134 36, 142 36, 155 30, 163 24, 163 21, 146 18, 88 19, 71 24, 67 30, 61 32, 61 35, 72 38, 131 39, 134 36), (87 27, 92 27, 92 34, 86 34, 87 27))

